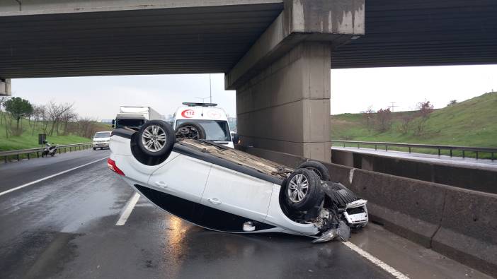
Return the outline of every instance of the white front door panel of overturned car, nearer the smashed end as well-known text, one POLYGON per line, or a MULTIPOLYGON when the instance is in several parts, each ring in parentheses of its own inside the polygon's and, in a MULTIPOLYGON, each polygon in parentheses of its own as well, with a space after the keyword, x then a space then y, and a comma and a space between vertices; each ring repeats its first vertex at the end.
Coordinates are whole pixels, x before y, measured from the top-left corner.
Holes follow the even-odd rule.
POLYGON ((268 213, 273 183, 225 167, 212 165, 202 205, 263 221, 268 213))

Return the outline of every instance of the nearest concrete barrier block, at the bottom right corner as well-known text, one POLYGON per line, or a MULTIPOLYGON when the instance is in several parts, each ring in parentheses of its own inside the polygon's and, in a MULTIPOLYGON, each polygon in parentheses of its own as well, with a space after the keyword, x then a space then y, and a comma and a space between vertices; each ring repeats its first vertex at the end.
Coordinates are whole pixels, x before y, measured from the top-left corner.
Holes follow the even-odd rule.
POLYGON ((447 191, 432 248, 497 277, 497 195, 447 191))

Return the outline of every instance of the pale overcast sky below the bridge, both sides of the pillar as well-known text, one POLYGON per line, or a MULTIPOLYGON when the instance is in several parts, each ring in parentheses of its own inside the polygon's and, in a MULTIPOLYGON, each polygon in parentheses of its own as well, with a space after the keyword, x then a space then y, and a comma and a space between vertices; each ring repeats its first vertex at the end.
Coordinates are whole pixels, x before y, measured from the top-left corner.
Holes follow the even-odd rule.
MULTIPOLYGON (((445 107, 497 90, 497 65, 331 70, 331 114, 386 108, 409 110, 430 100, 445 107)), ((23 78, 12 81, 13 96, 35 104, 74 102, 84 117, 113 119, 120 105, 150 106, 173 114, 181 102, 209 96, 209 75, 23 78)), ((205 99, 208 102, 208 99, 205 99)), ((212 102, 236 115, 235 92, 224 90, 224 74, 212 74, 212 102)))

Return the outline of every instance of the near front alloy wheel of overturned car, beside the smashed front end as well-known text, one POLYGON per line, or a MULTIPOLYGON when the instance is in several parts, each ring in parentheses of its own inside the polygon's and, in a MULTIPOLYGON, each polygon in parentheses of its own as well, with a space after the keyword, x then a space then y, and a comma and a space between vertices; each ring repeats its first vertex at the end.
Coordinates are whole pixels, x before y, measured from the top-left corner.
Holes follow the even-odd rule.
POLYGON ((323 200, 321 181, 312 170, 297 169, 286 182, 285 200, 295 210, 309 210, 323 200))

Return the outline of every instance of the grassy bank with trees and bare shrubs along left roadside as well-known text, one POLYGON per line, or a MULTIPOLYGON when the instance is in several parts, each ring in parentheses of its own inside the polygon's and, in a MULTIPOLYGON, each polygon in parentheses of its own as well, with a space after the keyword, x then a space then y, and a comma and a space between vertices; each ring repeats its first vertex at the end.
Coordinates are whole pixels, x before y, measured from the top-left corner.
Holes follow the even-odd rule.
POLYGON ((33 105, 20 97, 0 97, 0 151, 40 147, 38 133, 61 145, 85 143, 97 131, 110 129, 108 124, 79 117, 72 104, 33 105))

